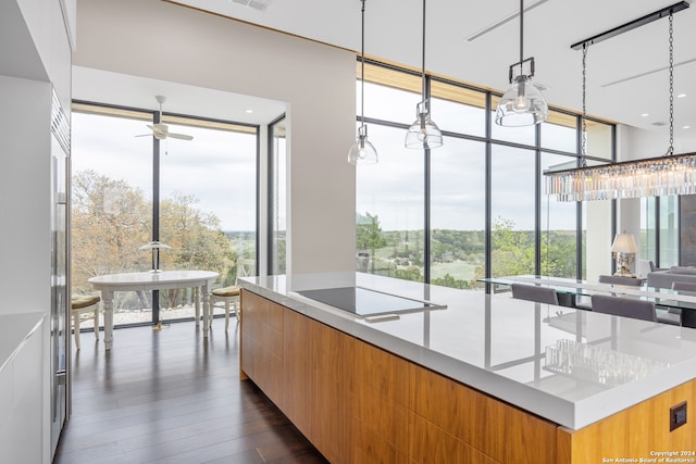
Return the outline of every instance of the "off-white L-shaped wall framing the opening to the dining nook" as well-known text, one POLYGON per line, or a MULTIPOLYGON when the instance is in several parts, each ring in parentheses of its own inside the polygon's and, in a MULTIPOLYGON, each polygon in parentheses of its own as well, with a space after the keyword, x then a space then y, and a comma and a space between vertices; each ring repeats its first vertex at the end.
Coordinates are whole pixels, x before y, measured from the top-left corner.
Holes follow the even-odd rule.
POLYGON ((288 269, 355 269, 355 53, 158 0, 77 17, 75 65, 287 102, 288 269))

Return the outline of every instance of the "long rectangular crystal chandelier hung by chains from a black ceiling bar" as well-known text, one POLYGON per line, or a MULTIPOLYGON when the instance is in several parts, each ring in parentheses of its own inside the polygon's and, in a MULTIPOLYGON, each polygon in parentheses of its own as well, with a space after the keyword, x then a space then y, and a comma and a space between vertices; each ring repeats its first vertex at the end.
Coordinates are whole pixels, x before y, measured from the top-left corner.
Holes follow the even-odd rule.
POLYGON ((583 48, 583 150, 581 167, 548 171, 546 192, 558 201, 614 200, 622 198, 658 197, 696 193, 696 153, 674 154, 674 41, 673 14, 689 7, 682 1, 638 20, 616 27, 598 36, 575 43, 583 48), (585 55, 592 43, 597 43, 626 30, 669 16, 669 80, 670 80, 670 145, 664 155, 623 161, 598 166, 585 162, 585 55))

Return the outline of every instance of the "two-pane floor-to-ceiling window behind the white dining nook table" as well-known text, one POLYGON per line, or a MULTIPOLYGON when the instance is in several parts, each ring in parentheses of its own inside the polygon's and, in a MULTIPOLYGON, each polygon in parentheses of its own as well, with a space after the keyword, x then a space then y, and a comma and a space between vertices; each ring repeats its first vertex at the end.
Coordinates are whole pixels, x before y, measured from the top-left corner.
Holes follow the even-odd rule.
MULTIPOLYGON (((257 127, 165 113, 170 133, 192 139, 156 140, 147 126, 156 116, 74 104, 74 293, 90 291, 95 275, 151 269, 140 247, 153 239, 172 247, 160 269, 215 271, 219 286, 234 283, 238 258, 257 255, 257 127)), ((191 290, 152 297, 116 293, 114 323, 192 316, 191 290)))

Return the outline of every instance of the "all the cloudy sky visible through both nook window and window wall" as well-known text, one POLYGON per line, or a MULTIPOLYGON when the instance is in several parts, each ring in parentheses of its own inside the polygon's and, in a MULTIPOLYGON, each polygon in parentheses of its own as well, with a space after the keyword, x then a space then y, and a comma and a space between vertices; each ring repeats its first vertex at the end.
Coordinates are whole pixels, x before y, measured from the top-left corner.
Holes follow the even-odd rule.
MULTIPOLYGON (((358 81, 358 96, 360 83, 358 81)), ((365 116, 401 124, 415 118, 420 95, 365 85, 365 116)), ((359 101, 357 102, 359 104, 359 101)), ((360 114, 360 108, 357 108, 360 114)), ((483 137, 484 110, 434 99, 432 118, 443 130, 483 137)), ((126 180, 151 198, 152 137, 145 121, 73 113, 73 174, 94 170, 126 180), (145 137, 139 137, 145 135, 145 137)), ((357 211, 377 215, 383 230, 422 229, 424 155, 403 147, 406 129, 368 124, 380 163, 358 166, 357 211)), ((256 139, 253 136, 170 125, 170 131, 194 136, 190 141, 161 141, 161 199, 174 192, 194 196, 197 206, 213 212, 224 230, 256 227, 256 139)), ((545 124, 544 147, 574 151, 575 131, 545 124)), ((493 137, 533 145, 534 127, 494 125, 493 137)), ((345 152, 336 153, 345 158, 345 152)), ((544 154, 543 168, 567 161, 544 154)), ((485 146, 445 137, 431 153, 433 228, 482 230, 485 206, 485 146)), ((494 145, 493 217, 512 221, 518 229, 534 228, 534 155, 530 150, 494 145)), ((543 196, 543 228, 574 229, 574 203, 543 196), (548 214, 547 214, 548 213, 548 214)))

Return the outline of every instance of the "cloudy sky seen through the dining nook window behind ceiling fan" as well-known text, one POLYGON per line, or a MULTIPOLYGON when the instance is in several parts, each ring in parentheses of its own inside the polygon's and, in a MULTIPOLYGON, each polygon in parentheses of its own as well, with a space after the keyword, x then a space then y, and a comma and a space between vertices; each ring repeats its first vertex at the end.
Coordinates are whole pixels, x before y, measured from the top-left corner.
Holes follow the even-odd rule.
MULTIPOLYGON (((73 113, 73 175, 94 170, 122 179, 152 198, 152 137, 146 122, 73 113), (139 135, 146 137, 136 137, 139 135)), ((223 230, 256 228, 256 137, 170 125, 192 140, 160 141, 160 199, 196 197, 214 212, 223 230)))

